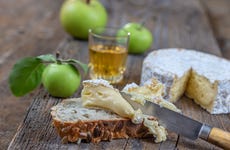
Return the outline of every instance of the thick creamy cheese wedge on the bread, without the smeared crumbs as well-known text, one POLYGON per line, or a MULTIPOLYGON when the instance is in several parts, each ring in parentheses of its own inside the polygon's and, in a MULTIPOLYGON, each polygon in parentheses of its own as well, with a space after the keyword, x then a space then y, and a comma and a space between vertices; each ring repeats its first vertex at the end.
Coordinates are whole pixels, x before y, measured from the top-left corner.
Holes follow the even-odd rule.
POLYGON ((101 107, 122 117, 133 118, 134 109, 109 82, 102 79, 85 80, 83 85, 81 96, 84 106, 101 107))

